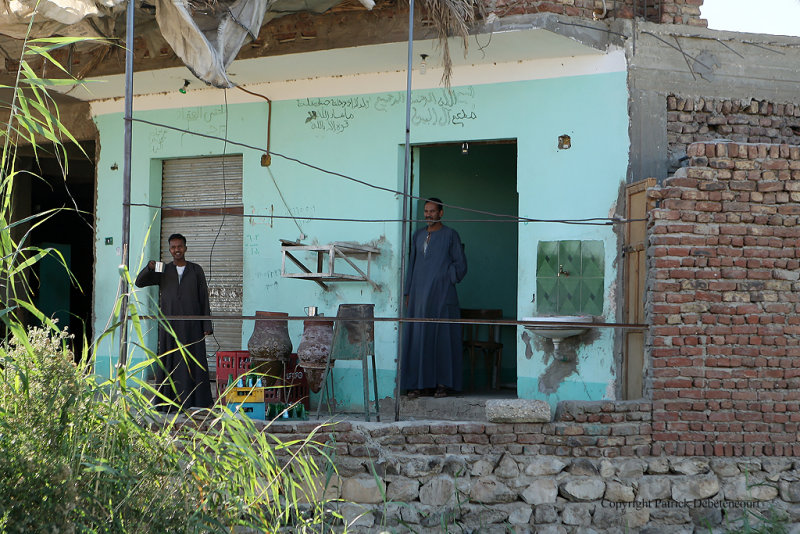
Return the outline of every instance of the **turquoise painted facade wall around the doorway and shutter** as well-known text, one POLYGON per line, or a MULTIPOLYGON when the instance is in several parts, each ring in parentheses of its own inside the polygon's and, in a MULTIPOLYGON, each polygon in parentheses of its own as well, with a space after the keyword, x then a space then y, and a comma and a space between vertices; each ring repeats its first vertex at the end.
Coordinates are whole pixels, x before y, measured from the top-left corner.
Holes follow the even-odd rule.
MULTIPOLYGON (((222 95, 220 93, 220 100, 222 95)), ((192 131, 224 136, 232 141, 266 145, 266 104, 184 107, 136 112, 137 118, 165 122, 192 131)), ((101 150, 98 161, 97 264, 95 331, 107 324, 117 291, 120 256, 120 205, 122 201, 122 131, 120 114, 96 117, 101 150), (112 165, 118 165, 112 170, 112 165), (103 244, 114 237, 115 245, 103 244)), ((375 292, 364 283, 332 284, 322 292, 308 281, 280 276, 279 239, 297 239, 301 230, 291 219, 247 218, 244 221, 245 314, 256 310, 285 311, 301 315, 303 306, 317 305, 335 315, 340 303, 370 302, 378 316, 396 316, 400 270, 400 232, 397 222, 356 223, 303 220, 302 217, 400 219, 399 196, 320 173, 278 154, 290 155, 325 169, 347 174, 393 190, 402 189, 405 96, 402 92, 308 98, 273 103, 272 171, 275 183, 291 207, 306 243, 355 241, 381 249, 372 267, 381 285, 375 292)), ((517 139, 517 190, 519 212, 528 217, 567 219, 606 217, 616 202, 627 167, 627 89, 624 72, 455 87, 418 91, 412 101, 412 143, 461 142, 463 140, 517 139), (567 133, 572 148, 558 150, 557 137, 567 133)), ((160 161, 165 158, 241 153, 244 165, 244 210, 254 215, 287 215, 268 170, 260 166, 256 151, 134 124, 133 203, 158 204, 160 161)), ((157 210, 132 209, 132 263, 154 256, 158 235, 146 241, 151 224, 158 224, 157 210), (142 251, 145 251, 142 254, 142 251)), ((155 226, 157 228, 157 226, 155 226)), ((609 227, 525 223, 519 227, 519 317, 533 313, 536 248, 539 240, 600 239, 606 251, 605 320, 614 320, 612 282, 616 271, 617 238, 609 227)), ((189 258, 191 259, 191 258, 189 258)), ((135 268, 135 267, 134 267, 135 268)), ((137 291, 153 299, 155 290, 137 291)), ((252 332, 243 327, 243 346, 252 332)), ((299 343, 301 324, 292 324, 290 335, 299 343)), ((394 389, 396 326, 376 323, 376 356, 380 396, 394 389)), ((613 339, 610 330, 599 331, 593 343, 578 348, 574 372, 563 377, 551 393, 543 392, 540 376, 550 369, 546 347, 526 343, 522 329, 517 337, 518 395, 544 398, 602 398, 613 384, 613 339), (530 355, 528 356, 528 353, 530 355)), ((150 342, 155 345, 153 332, 150 342)), ((99 347, 98 370, 110 372, 116 349, 106 341, 99 347)), ((134 355, 136 358, 136 355, 134 355)), ((547 375, 552 378, 552 371, 547 375)), ((339 402, 361 409, 361 370, 354 362, 335 368, 339 402)), ((544 388, 547 390, 548 388, 544 388)), ((552 389, 552 388, 551 388, 552 389)), ((613 389, 613 388, 612 388, 613 389)))

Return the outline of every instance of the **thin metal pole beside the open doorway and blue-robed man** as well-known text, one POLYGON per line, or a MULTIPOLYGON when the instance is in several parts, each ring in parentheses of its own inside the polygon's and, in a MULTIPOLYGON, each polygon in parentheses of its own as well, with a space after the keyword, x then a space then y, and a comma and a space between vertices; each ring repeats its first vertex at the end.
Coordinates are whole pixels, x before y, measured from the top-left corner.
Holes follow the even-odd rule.
MULTIPOLYGON (((405 317, 403 286, 408 248, 408 192, 411 183, 411 67, 414 61, 414 0, 408 0, 408 76, 406 81, 406 161, 403 169, 403 234, 400 239, 400 291, 397 292, 398 317, 405 317)), ((397 374, 394 383, 394 420, 400 420, 400 376, 403 371, 403 327, 397 324, 397 374)))

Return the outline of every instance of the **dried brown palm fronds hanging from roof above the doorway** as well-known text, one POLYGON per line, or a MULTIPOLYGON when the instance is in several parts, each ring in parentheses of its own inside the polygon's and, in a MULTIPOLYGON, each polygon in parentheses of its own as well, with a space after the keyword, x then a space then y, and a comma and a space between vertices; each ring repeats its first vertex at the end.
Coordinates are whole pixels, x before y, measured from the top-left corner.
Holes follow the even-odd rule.
POLYGON ((460 37, 464 43, 464 57, 469 48, 469 30, 478 15, 483 15, 484 5, 480 0, 422 0, 433 27, 436 28, 439 46, 442 48, 442 84, 450 88, 453 59, 450 56, 448 37, 460 37))

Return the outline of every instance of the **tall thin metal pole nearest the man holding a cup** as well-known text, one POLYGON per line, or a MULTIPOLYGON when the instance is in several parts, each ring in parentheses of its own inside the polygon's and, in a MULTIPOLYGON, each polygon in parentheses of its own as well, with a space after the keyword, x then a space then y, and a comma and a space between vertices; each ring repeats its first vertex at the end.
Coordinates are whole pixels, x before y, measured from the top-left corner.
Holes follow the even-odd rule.
MULTIPOLYGON (((127 276, 128 249, 131 241, 131 142, 133 137, 133 15, 134 0, 128 0, 125 21, 125 154, 122 163, 122 266, 121 276, 127 276)), ((128 363, 128 280, 123 278, 120 308, 119 366, 128 363)))

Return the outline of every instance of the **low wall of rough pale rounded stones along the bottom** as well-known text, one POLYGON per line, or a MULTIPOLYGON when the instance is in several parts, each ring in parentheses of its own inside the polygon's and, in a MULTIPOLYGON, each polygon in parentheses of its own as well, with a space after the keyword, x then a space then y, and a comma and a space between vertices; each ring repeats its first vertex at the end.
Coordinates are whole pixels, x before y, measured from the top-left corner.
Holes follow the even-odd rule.
MULTIPOLYGON (((602 408, 585 415, 613 413, 602 408)), ((326 495, 345 501, 350 532, 733 532, 743 513, 770 510, 800 521, 792 459, 556 456, 519 443, 541 430, 531 426, 337 423, 318 435, 338 471, 326 495)), ((269 431, 285 440, 313 427, 269 431)))

